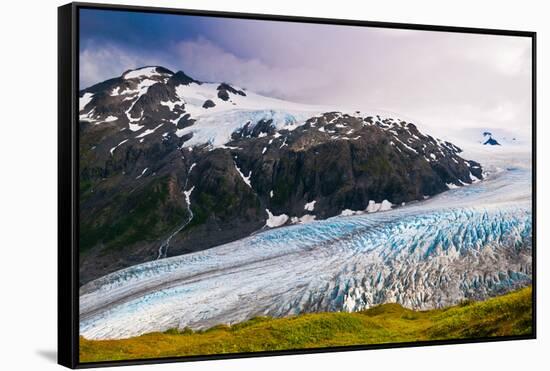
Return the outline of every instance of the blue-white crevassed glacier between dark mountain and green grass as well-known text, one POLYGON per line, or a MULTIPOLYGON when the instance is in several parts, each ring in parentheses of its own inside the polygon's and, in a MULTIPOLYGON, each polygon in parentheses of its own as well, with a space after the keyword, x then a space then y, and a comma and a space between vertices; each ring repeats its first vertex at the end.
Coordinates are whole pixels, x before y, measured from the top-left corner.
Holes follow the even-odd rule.
POLYGON ((531 282, 531 172, 375 214, 268 230, 130 267, 81 288, 80 334, 117 339, 258 315, 414 309, 531 282))

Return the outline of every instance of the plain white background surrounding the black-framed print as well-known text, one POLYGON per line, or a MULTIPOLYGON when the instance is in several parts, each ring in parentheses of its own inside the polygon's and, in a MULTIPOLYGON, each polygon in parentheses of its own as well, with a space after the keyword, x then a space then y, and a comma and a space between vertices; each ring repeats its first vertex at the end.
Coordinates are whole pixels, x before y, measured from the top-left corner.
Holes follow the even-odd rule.
MULTIPOLYGON (((107 1, 107 0, 105 0, 107 1)), ((114 1, 114 0, 113 0, 114 1)), ((132 5, 538 32, 538 339, 135 366, 157 370, 535 370, 550 349, 546 253, 550 24, 540 0, 134 0, 132 5), (546 229, 546 230, 545 230, 546 229), (546 353, 545 353, 546 351, 546 353)), ((5 1, 0 13, 0 368, 59 369, 56 352, 56 64, 59 0, 5 1)), ((546 366, 547 367, 547 366, 546 366)))

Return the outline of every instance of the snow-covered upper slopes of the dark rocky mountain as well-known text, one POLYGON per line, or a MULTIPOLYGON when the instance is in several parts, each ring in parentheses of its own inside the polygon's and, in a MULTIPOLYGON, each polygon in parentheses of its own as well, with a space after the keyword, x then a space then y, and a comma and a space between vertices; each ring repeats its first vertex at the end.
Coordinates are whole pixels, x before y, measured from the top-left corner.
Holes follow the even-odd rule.
POLYGON ((136 135, 163 124, 160 134, 184 138, 182 147, 223 148, 233 140, 233 134, 254 130, 258 124, 270 126, 272 135, 280 135, 279 131, 293 131, 319 118, 321 121, 311 126, 332 139, 357 140, 357 128, 352 128, 350 120, 359 120, 391 133, 395 137, 392 145, 411 153, 418 153, 412 142, 421 140, 432 141, 440 147, 439 152, 460 152, 448 142, 436 143, 432 137, 421 135, 410 121, 391 116, 370 109, 291 102, 227 82, 200 82, 182 71, 173 73, 160 66, 129 70, 118 79, 83 90, 80 97, 81 120, 116 122, 136 135), (331 124, 335 127, 326 126, 331 124))

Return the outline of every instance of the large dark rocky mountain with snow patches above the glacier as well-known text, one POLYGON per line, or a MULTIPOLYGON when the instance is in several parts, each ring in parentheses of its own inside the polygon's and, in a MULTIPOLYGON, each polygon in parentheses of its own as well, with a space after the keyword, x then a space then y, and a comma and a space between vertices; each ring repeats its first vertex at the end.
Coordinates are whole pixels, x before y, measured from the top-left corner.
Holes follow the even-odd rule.
POLYGON ((263 228, 482 179, 411 122, 288 102, 163 67, 80 91, 80 282, 263 228))

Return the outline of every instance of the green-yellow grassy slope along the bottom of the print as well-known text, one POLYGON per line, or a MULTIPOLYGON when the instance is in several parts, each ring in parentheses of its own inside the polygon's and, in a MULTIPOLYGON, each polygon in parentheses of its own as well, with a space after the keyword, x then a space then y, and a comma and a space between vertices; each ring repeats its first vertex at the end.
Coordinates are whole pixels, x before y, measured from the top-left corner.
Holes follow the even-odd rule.
POLYGON ((169 330, 123 340, 80 338, 80 361, 322 348, 532 333, 531 287, 482 302, 413 311, 383 304, 356 313, 258 317, 206 331, 169 330))

